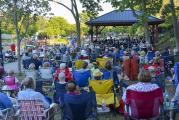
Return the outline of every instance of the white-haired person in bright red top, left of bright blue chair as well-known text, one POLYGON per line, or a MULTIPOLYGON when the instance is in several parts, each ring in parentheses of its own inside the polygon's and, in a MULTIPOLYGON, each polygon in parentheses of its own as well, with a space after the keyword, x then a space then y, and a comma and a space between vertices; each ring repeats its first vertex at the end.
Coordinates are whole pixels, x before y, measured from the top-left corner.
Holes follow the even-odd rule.
POLYGON ((58 69, 55 71, 55 75, 54 75, 55 81, 58 81, 58 75, 59 75, 59 73, 61 73, 61 72, 64 72, 64 73, 65 73, 65 81, 66 81, 66 82, 72 81, 71 72, 70 72, 69 68, 66 68, 66 64, 65 64, 65 63, 61 63, 61 64, 60 64, 60 68, 58 68, 58 69))

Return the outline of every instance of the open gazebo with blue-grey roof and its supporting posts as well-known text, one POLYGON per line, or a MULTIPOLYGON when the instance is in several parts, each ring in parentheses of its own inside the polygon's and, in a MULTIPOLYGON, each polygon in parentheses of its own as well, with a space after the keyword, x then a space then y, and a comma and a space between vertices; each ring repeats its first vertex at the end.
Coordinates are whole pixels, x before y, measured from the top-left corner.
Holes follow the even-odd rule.
MULTIPOLYGON (((141 15, 141 11, 135 11, 137 15, 141 15)), ((132 10, 114 10, 106 13, 96 19, 86 22, 87 25, 91 26, 91 41, 93 41, 94 28, 96 36, 105 28, 105 26, 131 26, 137 23, 139 20, 134 16, 132 10)), ((158 25, 164 21, 154 16, 148 17, 148 24, 151 26, 154 41, 158 39, 158 25)))

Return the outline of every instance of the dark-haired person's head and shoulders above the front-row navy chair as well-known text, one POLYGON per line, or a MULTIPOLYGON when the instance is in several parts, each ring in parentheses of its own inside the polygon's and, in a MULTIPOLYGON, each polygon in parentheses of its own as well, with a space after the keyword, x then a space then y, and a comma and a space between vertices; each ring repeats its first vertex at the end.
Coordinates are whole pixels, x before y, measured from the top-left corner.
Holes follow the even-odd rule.
POLYGON ((70 95, 80 94, 80 90, 76 86, 75 82, 68 82, 66 87, 67 87, 67 94, 70 94, 70 95))

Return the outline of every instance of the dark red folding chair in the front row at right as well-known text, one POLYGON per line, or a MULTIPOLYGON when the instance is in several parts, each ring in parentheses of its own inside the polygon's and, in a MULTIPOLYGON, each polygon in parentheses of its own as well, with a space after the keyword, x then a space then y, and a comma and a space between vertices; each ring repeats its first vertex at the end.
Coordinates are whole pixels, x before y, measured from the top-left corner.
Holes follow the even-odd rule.
POLYGON ((126 119, 152 119, 160 117, 164 101, 161 88, 150 92, 126 91, 126 119))

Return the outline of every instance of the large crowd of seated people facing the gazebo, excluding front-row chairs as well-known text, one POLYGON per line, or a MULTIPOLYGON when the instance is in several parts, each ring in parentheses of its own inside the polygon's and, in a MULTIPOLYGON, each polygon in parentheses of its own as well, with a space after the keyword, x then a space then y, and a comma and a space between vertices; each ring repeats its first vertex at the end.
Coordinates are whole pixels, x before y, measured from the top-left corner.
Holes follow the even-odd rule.
POLYGON ((54 102, 63 104, 61 93, 80 95, 90 91, 90 80, 110 79, 115 88, 111 91, 122 93, 124 103, 127 90, 150 92, 161 88, 165 92, 165 79, 174 83, 176 93, 172 101, 178 101, 179 68, 174 64, 174 54, 170 49, 159 52, 144 40, 130 38, 94 41, 84 47, 28 48, 22 56, 26 78, 21 82, 14 71, 7 71, 2 91, 13 92, 8 96, 0 93, 0 109, 12 107, 22 99, 40 99, 45 108, 54 102), (49 83, 48 91, 43 88, 44 81, 49 83), (138 82, 130 85, 125 81, 138 82), (46 94, 52 91, 53 97, 46 94))

